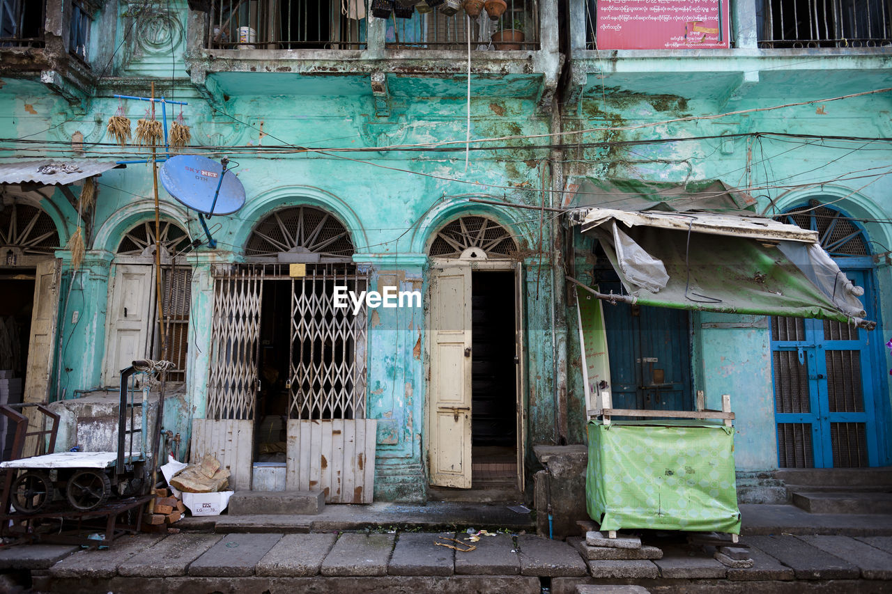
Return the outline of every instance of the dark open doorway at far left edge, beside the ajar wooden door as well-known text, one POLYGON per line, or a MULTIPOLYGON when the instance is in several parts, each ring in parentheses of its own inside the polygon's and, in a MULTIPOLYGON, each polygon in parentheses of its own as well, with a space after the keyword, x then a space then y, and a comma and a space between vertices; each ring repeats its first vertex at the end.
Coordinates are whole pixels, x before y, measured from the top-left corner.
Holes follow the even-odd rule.
MULTIPOLYGON (((31 313, 34 309, 34 270, 15 270, 0 274, 0 404, 18 404, 22 400, 31 313)), ((0 450, 3 459, 12 451, 12 433, 5 417, 0 418, 0 450)))

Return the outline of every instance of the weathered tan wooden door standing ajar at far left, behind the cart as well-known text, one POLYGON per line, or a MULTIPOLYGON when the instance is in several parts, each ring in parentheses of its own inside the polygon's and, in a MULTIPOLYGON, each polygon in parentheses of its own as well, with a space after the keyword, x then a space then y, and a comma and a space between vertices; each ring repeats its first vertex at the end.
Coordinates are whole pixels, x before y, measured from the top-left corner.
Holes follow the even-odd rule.
MULTIPOLYGON (((59 315, 59 282, 62 260, 45 260, 37 264, 34 284, 34 309, 31 313, 31 332, 28 343, 28 371, 25 377, 26 402, 49 400, 50 378, 55 354, 56 318, 59 315)), ((34 408, 26 408, 29 433, 42 429, 36 419, 41 417, 34 408)), ((25 441, 25 455, 35 453, 34 437, 25 441)))

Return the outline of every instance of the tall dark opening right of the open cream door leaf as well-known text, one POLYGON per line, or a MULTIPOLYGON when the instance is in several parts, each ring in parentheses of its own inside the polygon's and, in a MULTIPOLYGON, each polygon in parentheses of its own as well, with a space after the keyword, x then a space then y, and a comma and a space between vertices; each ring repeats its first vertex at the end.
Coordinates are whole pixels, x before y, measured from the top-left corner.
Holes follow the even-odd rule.
POLYGON ((471 480, 475 487, 516 481, 514 293, 513 271, 472 273, 471 480))

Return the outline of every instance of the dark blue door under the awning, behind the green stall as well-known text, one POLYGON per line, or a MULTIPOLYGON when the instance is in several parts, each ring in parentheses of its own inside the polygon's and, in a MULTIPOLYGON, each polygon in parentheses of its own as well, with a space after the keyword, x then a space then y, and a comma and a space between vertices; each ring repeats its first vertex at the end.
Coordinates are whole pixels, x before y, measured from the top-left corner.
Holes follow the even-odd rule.
POLYGON ((605 304, 604 324, 614 408, 692 409, 688 311, 605 304))

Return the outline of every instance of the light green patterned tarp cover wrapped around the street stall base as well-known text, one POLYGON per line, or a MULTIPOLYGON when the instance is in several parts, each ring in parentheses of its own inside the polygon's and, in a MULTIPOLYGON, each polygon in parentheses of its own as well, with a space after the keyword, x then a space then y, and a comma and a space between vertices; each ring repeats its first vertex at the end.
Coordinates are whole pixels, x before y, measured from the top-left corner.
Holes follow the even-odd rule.
POLYGON ((590 421, 586 507, 601 530, 740 533, 734 429, 698 421, 590 421))

